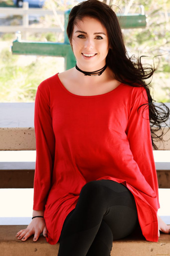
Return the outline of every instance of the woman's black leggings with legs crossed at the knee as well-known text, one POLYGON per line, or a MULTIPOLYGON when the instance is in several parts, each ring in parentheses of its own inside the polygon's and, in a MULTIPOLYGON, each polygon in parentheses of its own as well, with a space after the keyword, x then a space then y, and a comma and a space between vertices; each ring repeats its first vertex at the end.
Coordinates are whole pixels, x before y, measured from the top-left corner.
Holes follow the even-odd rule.
POLYGON ((112 180, 90 181, 64 221, 58 256, 109 256, 113 240, 130 235, 138 223, 128 188, 112 180))

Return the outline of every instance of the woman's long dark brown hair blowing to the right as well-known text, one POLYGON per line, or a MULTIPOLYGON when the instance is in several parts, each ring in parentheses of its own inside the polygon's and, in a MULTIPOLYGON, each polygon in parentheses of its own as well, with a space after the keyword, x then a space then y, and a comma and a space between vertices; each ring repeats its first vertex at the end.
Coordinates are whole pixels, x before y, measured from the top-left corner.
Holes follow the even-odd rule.
MULTIPOLYGON (((159 102, 162 103, 159 105, 159 107, 154 105, 155 100, 152 99, 149 89, 150 82, 146 83, 145 81, 146 79, 151 78, 154 74, 156 70, 155 65, 154 67, 151 65, 143 67, 141 63, 141 58, 143 56, 140 58, 135 58, 134 55, 129 57, 125 48, 124 35, 112 6, 98 0, 81 2, 74 6, 71 10, 66 30, 70 42, 72 41, 74 25, 78 20, 82 20, 83 17, 95 18, 99 20, 107 29, 111 49, 108 51, 106 63, 107 66, 113 71, 115 79, 121 83, 128 84, 133 87, 145 87, 148 95, 148 103, 143 105, 148 105, 149 107, 152 147, 154 147, 154 149, 158 149, 154 143, 154 139, 159 141, 163 140, 163 132, 159 136, 156 133, 161 129, 161 124, 168 120, 169 108, 163 102, 159 102), (165 109, 161 108, 161 106, 164 106, 165 109), (159 111, 156 108, 159 108, 162 111, 159 111), (154 129, 152 128, 153 126, 155 126, 154 129)), ((143 111, 144 110, 145 109, 143 109, 143 111)))

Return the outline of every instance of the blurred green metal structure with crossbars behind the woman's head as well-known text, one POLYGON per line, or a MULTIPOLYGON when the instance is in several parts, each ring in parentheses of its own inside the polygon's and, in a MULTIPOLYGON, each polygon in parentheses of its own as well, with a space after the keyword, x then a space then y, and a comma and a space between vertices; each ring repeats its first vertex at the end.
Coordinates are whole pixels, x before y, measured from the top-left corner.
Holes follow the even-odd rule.
MULTIPOLYGON (((70 11, 71 9, 64 13, 64 43, 22 41, 21 38, 18 37, 13 41, 12 53, 64 57, 65 70, 73 68, 76 60, 66 34, 70 11)), ((121 28, 124 29, 145 28, 147 25, 145 14, 117 14, 117 18, 121 28)))

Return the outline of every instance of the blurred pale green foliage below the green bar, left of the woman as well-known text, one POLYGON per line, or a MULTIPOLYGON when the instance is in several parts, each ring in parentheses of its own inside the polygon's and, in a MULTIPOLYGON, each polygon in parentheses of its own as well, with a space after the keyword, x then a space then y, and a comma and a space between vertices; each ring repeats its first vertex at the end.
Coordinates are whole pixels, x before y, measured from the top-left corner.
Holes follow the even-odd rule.
POLYGON ((22 57, 12 54, 7 48, 0 54, 1 102, 34 101, 37 86, 47 77, 61 72, 64 64, 62 58, 39 56, 30 57, 29 61, 28 56, 22 57))

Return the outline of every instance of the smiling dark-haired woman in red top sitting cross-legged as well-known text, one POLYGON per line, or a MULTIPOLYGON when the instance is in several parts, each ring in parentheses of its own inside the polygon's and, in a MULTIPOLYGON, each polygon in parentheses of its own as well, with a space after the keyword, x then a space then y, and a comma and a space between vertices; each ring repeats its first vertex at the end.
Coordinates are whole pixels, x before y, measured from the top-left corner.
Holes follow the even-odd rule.
POLYGON ((169 228, 157 216, 150 122, 169 110, 158 120, 145 82, 155 69, 128 57, 116 14, 97 0, 73 7, 67 35, 77 65, 38 86, 33 219, 16 237, 43 232, 59 256, 110 255, 137 227, 157 242, 169 228))

